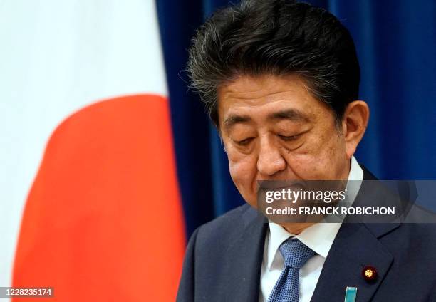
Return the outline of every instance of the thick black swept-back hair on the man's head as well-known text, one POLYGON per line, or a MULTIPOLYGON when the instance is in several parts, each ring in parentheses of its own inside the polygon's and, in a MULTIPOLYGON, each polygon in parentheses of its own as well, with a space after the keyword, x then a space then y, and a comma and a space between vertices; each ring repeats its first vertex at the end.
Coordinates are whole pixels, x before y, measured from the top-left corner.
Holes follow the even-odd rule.
POLYGON ((348 30, 325 9, 289 0, 242 0, 216 11, 192 39, 187 71, 217 127, 217 89, 239 75, 300 75, 337 122, 360 82, 348 30))

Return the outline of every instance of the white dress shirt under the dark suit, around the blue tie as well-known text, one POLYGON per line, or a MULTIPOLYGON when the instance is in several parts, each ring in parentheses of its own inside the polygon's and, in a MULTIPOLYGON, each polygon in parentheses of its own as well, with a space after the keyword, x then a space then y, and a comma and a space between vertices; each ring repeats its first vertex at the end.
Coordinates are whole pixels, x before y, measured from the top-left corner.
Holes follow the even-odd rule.
MULTIPOLYGON (((363 170, 354 157, 351 158, 350 173, 347 182, 347 199, 349 205, 354 202, 363 180, 363 170), (354 180, 357 182, 350 182, 354 180)), ((276 285, 281 271, 284 269, 284 259, 279 251, 279 246, 289 237, 299 239, 316 255, 308 259, 300 269, 300 302, 311 300, 316 283, 321 275, 324 261, 330 251, 333 240, 338 234, 341 223, 318 223, 295 235, 286 231, 279 224, 269 222, 269 232, 266 234, 264 246, 264 259, 262 261, 260 276, 259 301, 266 302, 272 289, 276 285)))

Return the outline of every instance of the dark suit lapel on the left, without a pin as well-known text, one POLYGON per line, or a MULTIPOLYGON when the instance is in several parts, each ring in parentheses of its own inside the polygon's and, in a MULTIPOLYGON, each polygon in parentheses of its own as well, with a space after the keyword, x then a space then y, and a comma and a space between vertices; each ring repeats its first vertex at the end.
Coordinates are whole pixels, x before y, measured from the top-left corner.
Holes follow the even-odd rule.
POLYGON ((244 229, 229 247, 227 298, 222 301, 258 301, 264 240, 268 224, 249 207, 242 216, 244 229))

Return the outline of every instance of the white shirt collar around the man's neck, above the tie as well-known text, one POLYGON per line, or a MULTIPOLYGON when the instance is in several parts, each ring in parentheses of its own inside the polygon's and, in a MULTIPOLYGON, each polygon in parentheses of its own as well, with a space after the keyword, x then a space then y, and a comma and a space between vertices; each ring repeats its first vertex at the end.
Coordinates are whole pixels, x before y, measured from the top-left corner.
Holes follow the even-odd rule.
MULTIPOLYGON (((349 205, 354 202, 362 180, 363 170, 353 156, 351 157, 351 167, 347 182, 347 199, 349 205)), ((271 269, 271 266, 273 265, 279 246, 289 237, 299 239, 303 244, 306 244, 308 248, 315 251, 316 254, 326 258, 340 227, 341 223, 313 224, 313 226, 301 231, 300 234, 295 235, 286 231, 279 224, 270 221, 267 256, 268 269, 271 269)))

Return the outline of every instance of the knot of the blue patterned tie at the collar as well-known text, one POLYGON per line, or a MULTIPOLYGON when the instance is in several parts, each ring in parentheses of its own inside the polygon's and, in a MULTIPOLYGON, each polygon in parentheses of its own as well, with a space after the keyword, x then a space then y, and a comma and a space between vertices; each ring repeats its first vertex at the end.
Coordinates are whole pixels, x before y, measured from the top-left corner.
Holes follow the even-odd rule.
POLYGON ((294 269, 300 269, 308 259, 310 259, 316 253, 309 249, 299 239, 289 238, 279 247, 283 258, 285 259, 285 266, 292 267, 294 269))

